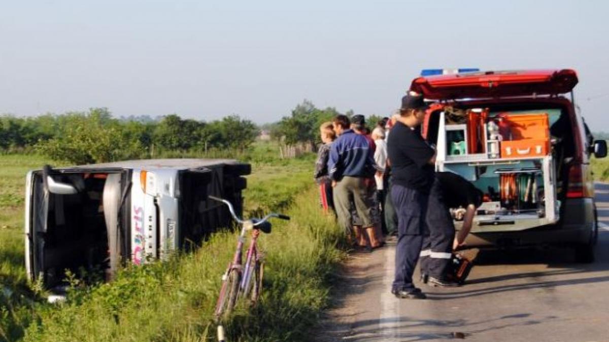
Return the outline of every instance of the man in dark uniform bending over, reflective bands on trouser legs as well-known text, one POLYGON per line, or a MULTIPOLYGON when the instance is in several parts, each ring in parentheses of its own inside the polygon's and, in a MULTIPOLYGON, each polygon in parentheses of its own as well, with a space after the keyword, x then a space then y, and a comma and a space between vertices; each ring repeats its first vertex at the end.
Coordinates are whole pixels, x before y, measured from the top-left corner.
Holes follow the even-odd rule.
POLYGON ((470 232, 476 209, 482 204, 482 191, 462 176, 452 172, 435 173, 429 195, 427 226, 421 250, 421 280, 432 286, 459 286, 448 279, 448 267, 452 250, 462 245, 470 232), (465 217, 459 236, 455 239, 455 227, 449 209, 463 208, 465 217))

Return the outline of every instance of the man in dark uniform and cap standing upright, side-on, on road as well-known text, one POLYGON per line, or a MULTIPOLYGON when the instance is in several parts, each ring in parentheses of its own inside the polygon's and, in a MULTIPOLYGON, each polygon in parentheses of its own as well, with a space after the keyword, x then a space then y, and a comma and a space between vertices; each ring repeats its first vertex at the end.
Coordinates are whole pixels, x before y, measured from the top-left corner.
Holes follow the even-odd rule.
POLYGON ((426 230, 429 190, 434 181, 435 150, 421 137, 427 106, 423 97, 409 92, 402 98, 400 117, 387 141, 392 166, 391 196, 398 215, 398 244, 392 293, 398 298, 424 299, 412 284, 426 230))

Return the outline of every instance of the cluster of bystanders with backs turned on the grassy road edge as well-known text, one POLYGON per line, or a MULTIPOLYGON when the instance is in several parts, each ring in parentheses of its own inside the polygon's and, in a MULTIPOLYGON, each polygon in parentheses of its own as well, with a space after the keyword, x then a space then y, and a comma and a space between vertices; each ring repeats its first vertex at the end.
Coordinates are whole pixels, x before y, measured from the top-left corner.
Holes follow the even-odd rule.
POLYGON ((368 251, 383 246, 390 232, 386 227, 396 226, 385 223, 383 210, 388 121, 379 121, 370 131, 364 116, 338 115, 320 127, 323 144, 314 177, 323 211, 334 212, 350 242, 368 251))

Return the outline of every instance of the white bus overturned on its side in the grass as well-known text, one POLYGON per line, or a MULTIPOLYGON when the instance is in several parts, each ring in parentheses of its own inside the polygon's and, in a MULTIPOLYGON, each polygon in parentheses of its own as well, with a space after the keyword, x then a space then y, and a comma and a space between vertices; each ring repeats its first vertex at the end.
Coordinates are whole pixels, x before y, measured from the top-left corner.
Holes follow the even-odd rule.
POLYGON ((233 159, 150 159, 32 170, 26 178, 25 250, 31 281, 60 291, 66 270, 109 281, 199 245, 230 225, 223 197, 242 211, 249 164, 233 159))

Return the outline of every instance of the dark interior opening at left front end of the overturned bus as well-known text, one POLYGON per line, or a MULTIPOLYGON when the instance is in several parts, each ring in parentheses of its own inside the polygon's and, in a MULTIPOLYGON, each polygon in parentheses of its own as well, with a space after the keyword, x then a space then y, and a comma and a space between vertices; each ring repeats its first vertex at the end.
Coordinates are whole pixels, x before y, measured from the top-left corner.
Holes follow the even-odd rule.
MULTIPOLYGON (((46 222, 35 226, 34 270, 49 288, 63 285, 66 271, 88 281, 104 280, 110 268, 108 229, 104 213, 104 187, 108 173, 52 175, 71 184, 76 194, 47 192, 46 222)), ((40 194, 43 176, 35 177, 40 194)), ((44 206, 45 204, 41 204, 44 206)), ((43 209, 43 208, 41 208, 43 209)))

